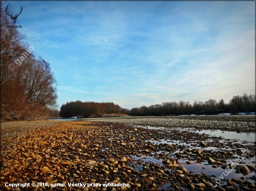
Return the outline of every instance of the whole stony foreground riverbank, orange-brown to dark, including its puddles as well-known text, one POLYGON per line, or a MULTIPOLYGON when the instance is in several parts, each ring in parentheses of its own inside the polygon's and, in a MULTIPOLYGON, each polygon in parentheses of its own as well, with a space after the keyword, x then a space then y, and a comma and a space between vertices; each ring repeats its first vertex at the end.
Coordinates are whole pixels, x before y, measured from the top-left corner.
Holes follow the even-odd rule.
POLYGON ((1 190, 255 190, 254 141, 106 121, 4 122, 1 190))

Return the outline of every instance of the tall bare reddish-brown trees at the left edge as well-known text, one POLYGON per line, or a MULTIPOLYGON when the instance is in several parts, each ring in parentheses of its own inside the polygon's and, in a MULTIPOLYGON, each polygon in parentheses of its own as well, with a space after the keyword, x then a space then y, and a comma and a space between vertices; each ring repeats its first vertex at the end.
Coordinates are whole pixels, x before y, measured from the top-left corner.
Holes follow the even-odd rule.
MULTIPOLYGON (((50 64, 35 57, 1 1, 1 119, 46 117, 56 110, 56 80, 50 64)), ((56 112, 56 111, 55 111, 56 112)))

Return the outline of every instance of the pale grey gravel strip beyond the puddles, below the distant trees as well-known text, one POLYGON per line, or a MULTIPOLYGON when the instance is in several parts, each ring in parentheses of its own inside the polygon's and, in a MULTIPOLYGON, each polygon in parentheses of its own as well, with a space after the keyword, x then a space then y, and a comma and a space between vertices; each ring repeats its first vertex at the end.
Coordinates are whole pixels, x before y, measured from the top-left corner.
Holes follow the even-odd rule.
POLYGON ((195 127, 197 129, 220 129, 224 131, 255 132, 255 116, 170 116, 170 117, 120 117, 94 118, 89 121, 119 122, 155 127, 195 127))

